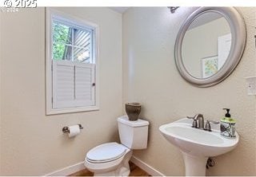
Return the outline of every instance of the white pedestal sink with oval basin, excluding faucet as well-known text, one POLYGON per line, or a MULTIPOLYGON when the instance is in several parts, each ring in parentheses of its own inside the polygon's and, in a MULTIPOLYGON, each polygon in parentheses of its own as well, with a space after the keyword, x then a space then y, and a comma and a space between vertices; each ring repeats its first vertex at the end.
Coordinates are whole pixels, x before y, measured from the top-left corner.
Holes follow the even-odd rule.
POLYGON ((159 130, 166 140, 182 151, 186 175, 206 175, 207 159, 233 150, 238 144, 239 136, 237 132, 233 139, 221 136, 219 125, 213 125, 212 132, 192 128, 192 121, 184 118, 163 124, 159 130))

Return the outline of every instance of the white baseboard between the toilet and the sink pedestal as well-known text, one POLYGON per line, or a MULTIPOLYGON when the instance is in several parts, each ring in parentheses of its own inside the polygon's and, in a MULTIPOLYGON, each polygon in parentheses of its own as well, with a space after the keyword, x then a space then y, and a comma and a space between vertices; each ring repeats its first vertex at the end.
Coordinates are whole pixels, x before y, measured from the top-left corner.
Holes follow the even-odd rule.
POLYGON ((134 157, 134 155, 130 158, 130 161, 152 176, 166 176, 163 175, 160 171, 154 169, 154 167, 151 167, 150 165, 144 163, 141 159, 134 157))

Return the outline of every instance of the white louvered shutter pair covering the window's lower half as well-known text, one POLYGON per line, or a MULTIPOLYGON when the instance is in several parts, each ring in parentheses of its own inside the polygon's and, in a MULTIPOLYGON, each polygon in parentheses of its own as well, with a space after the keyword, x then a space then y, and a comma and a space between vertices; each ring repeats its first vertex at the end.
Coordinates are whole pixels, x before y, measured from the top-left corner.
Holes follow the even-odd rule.
POLYGON ((95 65, 53 61, 53 108, 95 104, 95 65))

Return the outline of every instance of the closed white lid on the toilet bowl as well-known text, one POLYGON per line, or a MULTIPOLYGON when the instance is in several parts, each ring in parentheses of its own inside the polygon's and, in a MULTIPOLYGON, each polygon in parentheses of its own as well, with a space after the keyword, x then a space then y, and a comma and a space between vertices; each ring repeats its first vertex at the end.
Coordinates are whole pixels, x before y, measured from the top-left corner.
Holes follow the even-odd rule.
POLYGON ((92 148, 86 154, 86 158, 91 162, 106 162, 114 159, 118 159, 126 153, 126 147, 122 144, 108 143, 101 144, 95 148, 92 148))

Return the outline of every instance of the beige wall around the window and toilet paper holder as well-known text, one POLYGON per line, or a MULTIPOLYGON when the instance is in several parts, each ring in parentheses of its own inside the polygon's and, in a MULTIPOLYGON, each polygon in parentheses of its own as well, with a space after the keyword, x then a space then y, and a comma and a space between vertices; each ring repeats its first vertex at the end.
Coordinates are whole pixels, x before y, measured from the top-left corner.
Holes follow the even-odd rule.
POLYGON ((100 30, 100 111, 46 116, 45 9, 0 13, 1 172, 45 175, 84 160, 117 139, 122 115, 122 15, 107 8, 61 8, 100 30), (116 67, 120 66, 120 67, 116 67), (82 124, 74 139, 62 127, 82 124))

